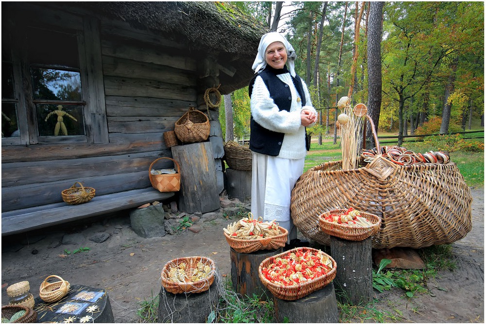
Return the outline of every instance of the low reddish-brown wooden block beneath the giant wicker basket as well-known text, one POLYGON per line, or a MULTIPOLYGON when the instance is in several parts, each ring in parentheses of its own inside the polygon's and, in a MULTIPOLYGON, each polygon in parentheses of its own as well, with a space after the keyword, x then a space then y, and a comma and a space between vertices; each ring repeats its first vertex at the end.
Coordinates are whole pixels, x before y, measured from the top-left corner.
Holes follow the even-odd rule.
POLYGON ((391 259, 391 263, 385 266, 387 269, 425 269, 425 264, 412 248, 377 249, 373 251, 373 261, 380 265, 383 258, 391 259))

